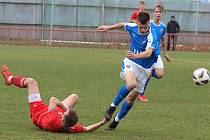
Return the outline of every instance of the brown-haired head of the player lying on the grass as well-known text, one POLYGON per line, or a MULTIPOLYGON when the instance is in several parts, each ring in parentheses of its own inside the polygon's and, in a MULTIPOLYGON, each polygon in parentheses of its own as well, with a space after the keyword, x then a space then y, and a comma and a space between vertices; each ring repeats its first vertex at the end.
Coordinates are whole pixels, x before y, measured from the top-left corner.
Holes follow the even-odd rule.
POLYGON ((63 114, 63 128, 68 130, 69 127, 75 125, 78 122, 79 118, 77 113, 70 108, 63 114))

